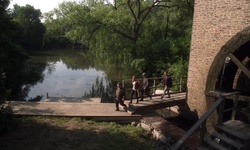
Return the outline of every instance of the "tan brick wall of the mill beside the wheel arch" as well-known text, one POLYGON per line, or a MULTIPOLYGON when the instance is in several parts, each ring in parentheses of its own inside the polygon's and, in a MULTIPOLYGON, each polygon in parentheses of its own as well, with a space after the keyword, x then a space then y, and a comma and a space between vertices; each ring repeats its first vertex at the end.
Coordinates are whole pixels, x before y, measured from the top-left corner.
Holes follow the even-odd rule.
POLYGON ((249 26, 250 0, 195 0, 187 86, 189 109, 198 117, 210 105, 205 92, 215 90, 216 81, 208 80, 211 66, 221 70, 223 46, 249 26))

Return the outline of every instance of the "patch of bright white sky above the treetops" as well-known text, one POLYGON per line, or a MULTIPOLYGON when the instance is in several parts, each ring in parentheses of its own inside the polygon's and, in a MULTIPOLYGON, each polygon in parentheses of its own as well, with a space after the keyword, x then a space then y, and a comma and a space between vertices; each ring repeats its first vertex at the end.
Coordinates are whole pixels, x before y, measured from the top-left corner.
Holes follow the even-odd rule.
POLYGON ((9 8, 13 8, 14 4, 19 6, 25 6, 29 4, 35 9, 40 9, 42 13, 49 12, 56 8, 58 4, 64 1, 76 1, 76 0, 10 0, 9 8))

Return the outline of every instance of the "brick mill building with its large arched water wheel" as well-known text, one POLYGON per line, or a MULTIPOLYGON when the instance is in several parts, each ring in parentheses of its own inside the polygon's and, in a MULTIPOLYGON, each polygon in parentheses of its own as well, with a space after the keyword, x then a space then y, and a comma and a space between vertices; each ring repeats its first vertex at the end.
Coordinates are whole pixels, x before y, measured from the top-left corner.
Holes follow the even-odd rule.
POLYGON ((211 91, 240 91, 249 107, 249 58, 250 0, 195 0, 186 109, 201 117, 211 91))

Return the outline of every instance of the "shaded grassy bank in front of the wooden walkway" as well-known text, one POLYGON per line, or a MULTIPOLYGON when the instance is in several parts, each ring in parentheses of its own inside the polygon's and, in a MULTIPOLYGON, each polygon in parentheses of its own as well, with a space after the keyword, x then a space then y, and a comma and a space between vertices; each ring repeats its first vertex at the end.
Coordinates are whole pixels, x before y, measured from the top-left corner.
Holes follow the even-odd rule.
POLYGON ((21 117, 0 135, 1 150, 155 150, 140 127, 80 118, 21 117))

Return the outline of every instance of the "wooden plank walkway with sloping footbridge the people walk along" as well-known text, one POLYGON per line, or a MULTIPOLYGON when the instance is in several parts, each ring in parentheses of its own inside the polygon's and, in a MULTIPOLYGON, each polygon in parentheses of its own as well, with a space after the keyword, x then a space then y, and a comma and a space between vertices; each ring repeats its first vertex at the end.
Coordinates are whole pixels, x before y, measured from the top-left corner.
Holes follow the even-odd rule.
MULTIPOLYGON (((21 102, 11 101, 15 115, 40 115, 40 116, 65 116, 65 117, 83 117, 103 121, 135 121, 140 120, 141 112, 145 112, 175 105, 176 102, 185 99, 184 93, 172 94, 171 98, 160 99, 160 96, 153 97, 152 100, 145 98, 139 104, 128 104, 130 113, 124 110, 115 111, 114 103, 100 103, 100 98, 51 98, 44 102, 21 102), (181 100, 180 100, 181 99, 181 100), (141 111, 141 112, 140 112, 141 111), (132 112, 132 113, 131 113, 132 112), (134 113, 137 114, 134 114, 134 113)), ((181 103, 182 103, 181 102, 181 103)))

